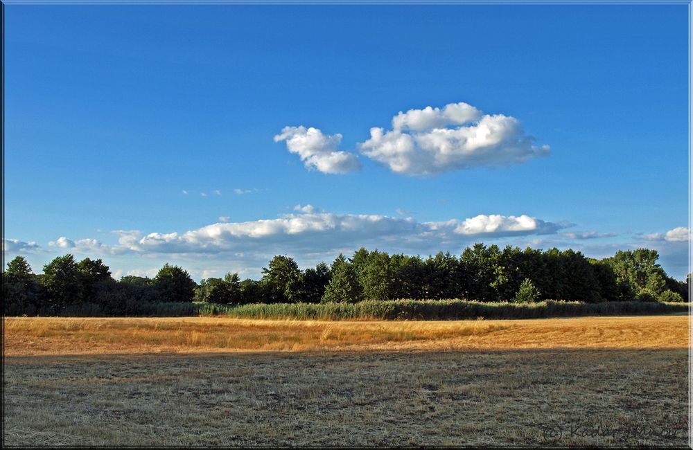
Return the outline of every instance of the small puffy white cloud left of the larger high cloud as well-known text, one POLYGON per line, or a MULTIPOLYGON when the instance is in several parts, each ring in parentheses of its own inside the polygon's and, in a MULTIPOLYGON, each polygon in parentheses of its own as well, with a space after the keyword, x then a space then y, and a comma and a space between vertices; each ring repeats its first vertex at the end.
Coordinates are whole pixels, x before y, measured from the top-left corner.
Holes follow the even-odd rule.
POLYGON ((289 152, 299 155, 308 170, 345 174, 361 168, 356 154, 337 150, 337 145, 342 141, 341 134, 323 134, 317 128, 301 125, 284 127, 281 134, 274 136, 274 142, 279 141, 286 141, 289 152))

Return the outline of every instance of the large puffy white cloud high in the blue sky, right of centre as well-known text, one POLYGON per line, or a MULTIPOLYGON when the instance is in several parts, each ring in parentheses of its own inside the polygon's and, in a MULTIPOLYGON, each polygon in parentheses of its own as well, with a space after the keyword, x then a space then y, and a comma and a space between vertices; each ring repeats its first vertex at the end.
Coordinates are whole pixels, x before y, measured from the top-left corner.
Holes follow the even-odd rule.
POLYGON ((410 109, 395 116, 392 125, 387 132, 371 128, 371 138, 358 144, 358 149, 399 174, 524 163, 549 152, 548 145, 534 145, 518 119, 482 115, 466 103, 410 109))

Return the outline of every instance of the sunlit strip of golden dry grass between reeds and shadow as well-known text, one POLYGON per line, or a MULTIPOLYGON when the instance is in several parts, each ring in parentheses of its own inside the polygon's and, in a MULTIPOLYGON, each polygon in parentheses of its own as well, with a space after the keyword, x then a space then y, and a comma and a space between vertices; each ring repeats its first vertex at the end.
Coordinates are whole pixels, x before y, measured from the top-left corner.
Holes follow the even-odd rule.
POLYGON ((687 348, 688 316, 518 321, 5 318, 8 356, 200 351, 687 348))

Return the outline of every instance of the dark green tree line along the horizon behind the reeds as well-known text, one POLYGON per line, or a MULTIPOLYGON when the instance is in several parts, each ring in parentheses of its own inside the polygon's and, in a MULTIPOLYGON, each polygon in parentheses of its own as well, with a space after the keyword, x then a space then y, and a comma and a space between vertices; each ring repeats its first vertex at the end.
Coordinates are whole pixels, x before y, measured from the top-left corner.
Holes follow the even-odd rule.
MULTIPOLYGON (((428 258, 361 248, 299 269, 277 255, 260 280, 238 273, 195 283, 190 274, 165 264, 154 278, 123 276, 116 281, 102 260, 73 255, 55 258, 33 273, 17 256, 3 272, 4 314, 60 312, 70 305, 100 305, 104 312, 128 314, 142 303, 357 303, 360 300, 463 298, 483 302, 538 300, 678 301, 688 298, 689 280, 667 276, 655 250, 618 251, 610 258, 586 258, 571 249, 475 244, 461 255, 439 252, 428 258)), ((690 276, 688 277, 690 279, 690 276)))

